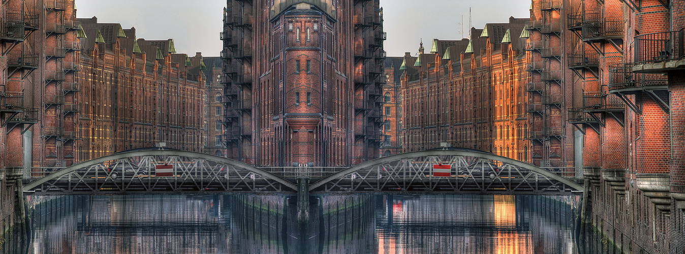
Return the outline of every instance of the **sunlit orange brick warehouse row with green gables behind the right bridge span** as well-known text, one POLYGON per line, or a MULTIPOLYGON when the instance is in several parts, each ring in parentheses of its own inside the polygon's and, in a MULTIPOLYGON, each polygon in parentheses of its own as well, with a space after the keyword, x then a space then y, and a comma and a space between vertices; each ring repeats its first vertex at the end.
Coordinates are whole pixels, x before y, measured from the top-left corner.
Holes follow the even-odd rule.
POLYGON ((406 53, 400 67, 404 151, 447 142, 524 162, 537 158, 526 135, 532 130, 524 107, 527 20, 472 28, 472 40, 434 39, 430 53, 422 42, 416 58, 406 53))

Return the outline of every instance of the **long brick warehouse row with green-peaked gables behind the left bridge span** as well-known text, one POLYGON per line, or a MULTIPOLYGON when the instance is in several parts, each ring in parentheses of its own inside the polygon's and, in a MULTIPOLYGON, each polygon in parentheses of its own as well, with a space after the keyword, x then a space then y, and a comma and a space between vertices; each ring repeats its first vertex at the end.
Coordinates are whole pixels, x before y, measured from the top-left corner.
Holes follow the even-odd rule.
MULTIPOLYGON (((78 112, 76 134, 70 134, 78 137, 75 161, 159 142, 203 151, 206 66, 200 53, 190 58, 176 53, 171 39, 138 39, 135 28, 98 23, 95 17, 77 21, 83 27, 79 82, 62 86, 65 93, 64 87, 80 90, 71 106, 78 112)), ((62 140, 68 131, 60 134, 62 140)))

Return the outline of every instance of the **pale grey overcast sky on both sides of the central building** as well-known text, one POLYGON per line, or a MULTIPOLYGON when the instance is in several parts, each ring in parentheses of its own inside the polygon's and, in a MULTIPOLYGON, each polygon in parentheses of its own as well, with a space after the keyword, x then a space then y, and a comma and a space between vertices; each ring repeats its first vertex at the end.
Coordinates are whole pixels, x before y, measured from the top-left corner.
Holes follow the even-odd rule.
MULTIPOLYGON (((76 0, 77 17, 97 16, 100 23, 136 27, 138 38, 174 39, 179 53, 218 56, 225 0, 76 0)), ((423 38, 426 51, 433 38, 458 40, 469 36, 469 6, 473 27, 506 23, 510 16, 530 16, 530 0, 381 0, 388 56, 412 55, 423 38)))

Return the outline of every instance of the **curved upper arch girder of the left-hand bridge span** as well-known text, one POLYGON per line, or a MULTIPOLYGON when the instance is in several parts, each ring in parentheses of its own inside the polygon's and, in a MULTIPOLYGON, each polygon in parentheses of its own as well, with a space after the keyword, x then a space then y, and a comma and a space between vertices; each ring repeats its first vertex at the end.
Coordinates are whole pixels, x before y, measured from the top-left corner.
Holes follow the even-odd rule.
MULTIPOLYGON (((41 186, 43 184, 49 184, 49 181, 55 181, 60 178, 64 178, 66 176, 69 176, 71 174, 76 174, 77 171, 79 170, 84 170, 84 168, 97 168, 100 167, 100 170, 103 169, 102 165, 105 162, 111 162, 111 161, 117 161, 117 160, 126 160, 127 158, 132 158, 132 157, 150 157, 150 156, 177 156, 177 157, 187 157, 187 158, 192 158, 195 160, 201 160, 203 162, 213 162, 214 164, 218 165, 225 165, 232 167, 233 170, 236 172, 240 171, 242 174, 239 174, 238 178, 245 179, 245 177, 251 177, 251 180, 254 180, 255 175, 260 177, 260 179, 264 179, 265 181, 271 182, 267 183, 273 187, 273 182, 279 183, 280 185, 290 188, 290 190, 297 190, 297 186, 295 183, 292 183, 290 181, 287 181, 286 179, 283 179, 282 177, 279 177, 277 175, 274 175, 273 173, 269 173, 266 170, 262 170, 261 168, 257 168, 255 166, 251 166, 249 164, 245 164, 242 162, 238 162, 236 160, 231 160, 225 157, 219 157, 216 155, 210 155, 206 153, 197 153, 197 152, 191 152, 191 151, 178 151, 178 150, 143 150, 143 151, 125 151, 122 153, 115 153, 112 155, 108 155, 105 157, 99 157, 93 160, 89 160, 86 162, 80 162, 78 164, 73 164, 72 166, 68 166, 66 168, 62 168, 58 171, 52 172, 49 175, 46 175, 45 177, 41 177, 38 179, 34 179, 34 181, 31 181, 27 183, 27 185, 23 186, 23 189, 25 191, 30 191, 33 190, 34 188, 37 188, 38 186, 41 186), (253 174, 253 175, 249 175, 253 174)), ((214 166, 214 170, 219 169, 219 166, 214 166)), ((90 169, 89 169, 90 170, 90 169)), ((211 168, 209 170, 212 170, 211 168)), ((223 167, 220 168, 220 170, 224 170, 223 167)), ((229 170, 229 168, 225 168, 226 171, 229 170)), ((94 170, 95 172, 95 170, 94 170)), ((188 171, 189 172, 189 171, 188 171)), ((214 179, 219 179, 219 173, 217 172, 209 172, 208 170, 205 169, 203 171, 204 174, 207 175, 201 175, 200 177, 214 177, 214 179)), ((235 172, 234 172, 235 173, 235 172)), ((102 173, 101 173, 102 174, 102 173)), ((148 175, 150 173, 147 173, 148 175)), ((202 174, 202 173, 201 173, 202 174)), ((224 173, 225 177, 227 178, 228 172, 224 173)), ((73 179, 75 178, 80 178, 81 181, 83 181, 83 175, 74 175, 72 177, 73 179)), ((148 176, 149 177, 149 176, 148 176)), ((185 176, 187 178, 187 176, 185 176)), ((93 177, 90 177, 93 178, 93 177)), ((105 173, 105 175, 101 178, 104 178, 104 181, 110 180, 114 182, 117 180, 117 177, 114 177, 108 173, 105 173)), ((121 178, 124 178, 122 176, 121 178)), ((78 180, 78 179, 77 179, 78 180)), ((223 180, 223 179, 222 179, 223 180)), ((88 184, 88 183, 84 183, 88 184)), ((197 184, 197 183, 196 183, 197 184)))

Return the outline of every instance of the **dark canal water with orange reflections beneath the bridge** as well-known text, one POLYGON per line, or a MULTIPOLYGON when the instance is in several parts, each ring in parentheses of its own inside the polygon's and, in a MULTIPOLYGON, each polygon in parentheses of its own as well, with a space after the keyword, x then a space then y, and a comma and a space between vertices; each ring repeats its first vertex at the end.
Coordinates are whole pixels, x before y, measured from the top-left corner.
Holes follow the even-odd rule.
POLYGON ((580 196, 28 196, 0 253, 613 253, 580 196), (588 237, 579 237, 586 236, 588 237))

